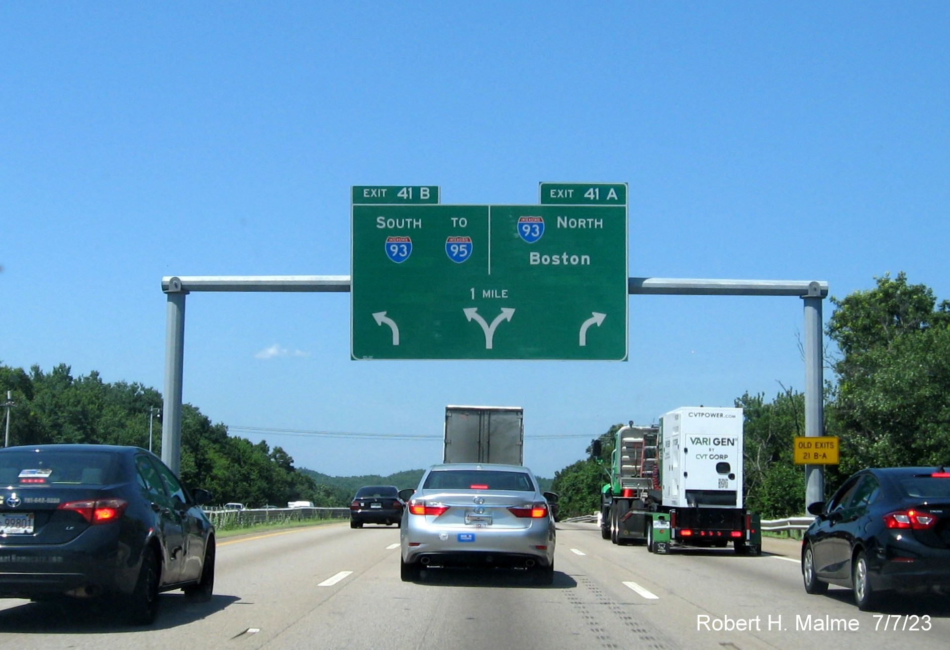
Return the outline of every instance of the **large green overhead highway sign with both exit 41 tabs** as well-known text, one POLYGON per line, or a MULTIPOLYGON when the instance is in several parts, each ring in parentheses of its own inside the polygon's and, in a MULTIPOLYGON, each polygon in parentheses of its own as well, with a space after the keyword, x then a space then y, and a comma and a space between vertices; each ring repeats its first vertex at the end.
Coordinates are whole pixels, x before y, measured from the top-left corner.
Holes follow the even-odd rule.
POLYGON ((539 205, 352 188, 353 359, 627 359, 627 185, 539 205))

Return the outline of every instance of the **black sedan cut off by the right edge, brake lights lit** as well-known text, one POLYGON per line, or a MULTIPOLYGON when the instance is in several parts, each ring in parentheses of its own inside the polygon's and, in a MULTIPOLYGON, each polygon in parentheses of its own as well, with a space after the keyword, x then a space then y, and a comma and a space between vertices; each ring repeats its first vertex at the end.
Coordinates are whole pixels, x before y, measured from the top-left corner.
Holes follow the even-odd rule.
POLYGON ((950 472, 945 468, 868 469, 826 503, 802 541, 809 594, 850 587, 862 610, 890 591, 950 592, 950 472))

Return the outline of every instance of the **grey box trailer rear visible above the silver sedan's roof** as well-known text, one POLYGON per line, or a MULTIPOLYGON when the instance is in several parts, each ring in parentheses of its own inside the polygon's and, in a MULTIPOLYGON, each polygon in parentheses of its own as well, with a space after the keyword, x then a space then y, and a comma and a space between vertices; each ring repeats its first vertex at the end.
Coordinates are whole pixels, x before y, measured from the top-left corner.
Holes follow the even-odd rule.
POLYGON ((523 464, 521 406, 447 406, 443 462, 523 464))

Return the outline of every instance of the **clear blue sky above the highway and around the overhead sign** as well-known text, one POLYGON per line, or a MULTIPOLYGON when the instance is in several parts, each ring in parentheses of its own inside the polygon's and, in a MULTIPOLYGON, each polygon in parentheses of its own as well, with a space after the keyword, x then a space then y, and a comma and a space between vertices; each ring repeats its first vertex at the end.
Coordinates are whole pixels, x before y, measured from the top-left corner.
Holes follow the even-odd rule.
MULTIPOLYGON (((632 276, 950 298, 948 44, 927 2, 0 4, 0 361, 161 390, 161 277, 349 274, 361 184, 626 181, 632 276)), ((804 387, 797 298, 629 308, 628 362, 352 362, 349 294, 191 294, 184 399, 432 436, 263 436, 344 475, 438 461, 446 404, 520 405, 552 476, 614 422, 804 387)))

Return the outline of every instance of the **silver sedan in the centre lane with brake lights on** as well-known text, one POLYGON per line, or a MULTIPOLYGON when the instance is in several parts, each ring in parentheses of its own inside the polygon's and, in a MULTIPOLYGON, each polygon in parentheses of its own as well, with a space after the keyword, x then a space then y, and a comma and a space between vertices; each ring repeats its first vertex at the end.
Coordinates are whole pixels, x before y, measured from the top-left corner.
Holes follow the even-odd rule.
POLYGON ((453 463, 423 474, 403 513, 402 579, 432 566, 529 569, 554 580, 554 516, 531 470, 518 465, 453 463))

